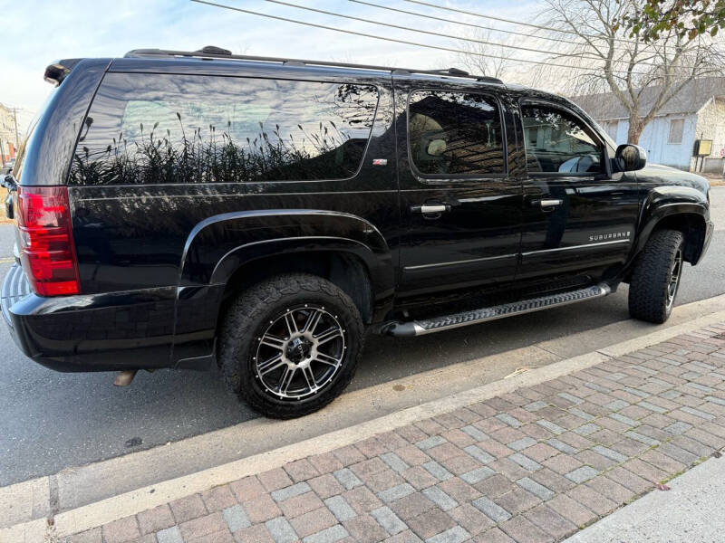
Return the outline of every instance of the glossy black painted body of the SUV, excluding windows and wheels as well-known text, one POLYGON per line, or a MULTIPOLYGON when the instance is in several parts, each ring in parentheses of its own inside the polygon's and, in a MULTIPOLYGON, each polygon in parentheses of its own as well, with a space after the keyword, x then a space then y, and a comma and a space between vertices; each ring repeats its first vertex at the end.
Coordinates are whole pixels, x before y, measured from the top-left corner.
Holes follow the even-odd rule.
POLYGON ((70 185, 82 294, 30 295, 9 308, 24 352, 56 369, 208 367, 225 301, 237 283, 267 270, 319 268, 341 281, 365 319, 377 324, 483 291, 516 298, 527 289, 603 280, 615 288, 662 220, 691 225, 692 263, 710 239, 708 186, 701 177, 657 167, 619 171, 614 147, 565 99, 493 82, 350 68, 190 58, 82 61, 34 131, 21 184, 65 183, 106 68, 115 75, 372 85, 379 101, 362 165, 349 178, 70 185), (417 173, 407 119, 415 90, 480 93, 496 103, 502 171, 417 173), (523 99, 554 103, 589 124, 601 138, 606 175, 529 175, 523 99), (565 205, 553 213, 532 205, 546 198, 565 205), (439 204, 448 207, 436 214, 415 211, 439 204), (597 236, 620 232, 630 233, 623 243, 597 243, 597 236))

